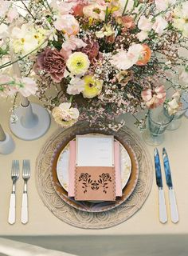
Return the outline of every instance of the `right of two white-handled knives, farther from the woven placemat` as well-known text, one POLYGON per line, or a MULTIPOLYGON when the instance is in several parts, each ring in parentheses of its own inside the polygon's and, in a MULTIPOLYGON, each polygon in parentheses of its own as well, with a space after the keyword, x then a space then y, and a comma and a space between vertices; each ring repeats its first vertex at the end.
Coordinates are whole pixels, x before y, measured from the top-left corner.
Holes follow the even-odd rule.
POLYGON ((169 188, 171 221, 174 222, 174 223, 177 223, 178 220, 179 220, 179 218, 178 218, 178 207, 177 207, 175 194, 174 194, 174 188, 173 188, 173 184, 172 184, 169 159, 168 159, 168 155, 166 153, 165 148, 163 148, 163 164, 164 164, 164 170, 165 170, 165 176, 166 176, 166 184, 169 188))

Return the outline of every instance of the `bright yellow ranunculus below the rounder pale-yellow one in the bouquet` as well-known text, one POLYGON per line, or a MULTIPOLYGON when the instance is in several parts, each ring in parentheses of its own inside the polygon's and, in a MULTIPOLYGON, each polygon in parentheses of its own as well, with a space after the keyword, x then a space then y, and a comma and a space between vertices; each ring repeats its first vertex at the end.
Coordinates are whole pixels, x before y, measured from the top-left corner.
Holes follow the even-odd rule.
POLYGON ((103 82, 94 79, 91 75, 84 76, 84 98, 94 98, 101 93, 103 82))

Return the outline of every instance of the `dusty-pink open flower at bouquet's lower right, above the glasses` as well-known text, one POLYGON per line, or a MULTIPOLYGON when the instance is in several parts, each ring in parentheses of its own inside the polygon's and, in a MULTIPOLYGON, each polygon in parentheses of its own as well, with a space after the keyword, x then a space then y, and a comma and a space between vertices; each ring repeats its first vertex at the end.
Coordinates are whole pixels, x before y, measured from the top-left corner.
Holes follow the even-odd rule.
POLYGON ((154 109, 163 104, 166 99, 166 90, 164 86, 157 86, 154 90, 151 88, 142 91, 143 101, 149 109, 154 109))

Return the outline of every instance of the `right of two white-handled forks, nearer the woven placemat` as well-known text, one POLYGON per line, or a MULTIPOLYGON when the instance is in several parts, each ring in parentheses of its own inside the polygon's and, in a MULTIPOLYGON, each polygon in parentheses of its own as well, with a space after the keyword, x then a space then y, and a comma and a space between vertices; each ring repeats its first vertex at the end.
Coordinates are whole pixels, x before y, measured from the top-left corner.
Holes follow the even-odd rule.
POLYGON ((27 182, 30 178, 30 162, 29 160, 23 160, 22 178, 24 180, 24 190, 22 194, 22 223, 28 222, 28 196, 27 196, 27 182))

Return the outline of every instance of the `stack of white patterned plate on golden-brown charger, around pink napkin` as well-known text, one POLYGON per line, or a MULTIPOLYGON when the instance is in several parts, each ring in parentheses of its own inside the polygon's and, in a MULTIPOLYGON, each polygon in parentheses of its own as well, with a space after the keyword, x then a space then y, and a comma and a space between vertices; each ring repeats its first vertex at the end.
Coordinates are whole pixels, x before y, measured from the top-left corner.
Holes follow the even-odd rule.
MULTIPOLYGON (((93 135, 93 134, 92 134, 93 135)), ((100 134, 102 135, 102 134, 100 134)), ((71 138, 76 139, 76 138, 71 138)), ((118 140, 118 138, 115 138, 118 140)), ((69 198, 69 141, 57 146, 51 162, 51 180, 53 187, 61 199, 77 210, 88 212, 103 212, 116 208, 130 197, 139 178, 139 165, 135 152, 124 142, 120 142, 120 170, 122 178, 122 197, 116 202, 80 202, 69 198)), ((72 181, 74 182, 74 181, 72 181)))

